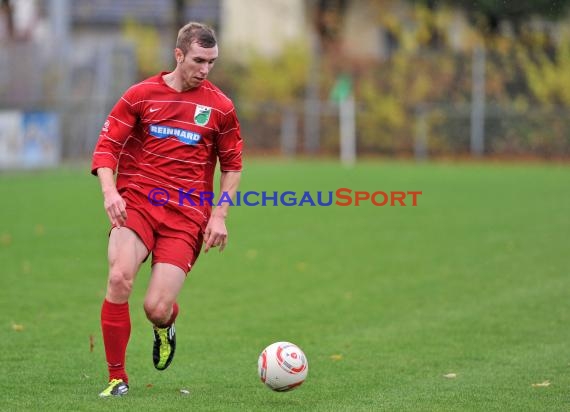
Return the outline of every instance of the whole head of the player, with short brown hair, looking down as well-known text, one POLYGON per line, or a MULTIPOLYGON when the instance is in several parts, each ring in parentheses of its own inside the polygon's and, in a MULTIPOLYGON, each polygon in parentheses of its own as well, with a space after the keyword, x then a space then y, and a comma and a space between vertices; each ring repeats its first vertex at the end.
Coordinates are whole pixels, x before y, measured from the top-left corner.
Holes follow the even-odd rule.
POLYGON ((185 87, 193 88, 204 81, 218 58, 216 35, 211 27, 191 22, 178 32, 176 73, 185 87))

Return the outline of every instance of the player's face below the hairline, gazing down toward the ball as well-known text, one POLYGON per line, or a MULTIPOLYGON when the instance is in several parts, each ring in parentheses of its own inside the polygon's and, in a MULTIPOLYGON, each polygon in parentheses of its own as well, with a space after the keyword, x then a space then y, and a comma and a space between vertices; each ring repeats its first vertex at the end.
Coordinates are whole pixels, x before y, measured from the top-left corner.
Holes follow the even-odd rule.
POLYGON ((178 69, 186 88, 197 87, 202 83, 214 67, 218 58, 218 46, 204 48, 192 43, 186 55, 176 49, 178 69))

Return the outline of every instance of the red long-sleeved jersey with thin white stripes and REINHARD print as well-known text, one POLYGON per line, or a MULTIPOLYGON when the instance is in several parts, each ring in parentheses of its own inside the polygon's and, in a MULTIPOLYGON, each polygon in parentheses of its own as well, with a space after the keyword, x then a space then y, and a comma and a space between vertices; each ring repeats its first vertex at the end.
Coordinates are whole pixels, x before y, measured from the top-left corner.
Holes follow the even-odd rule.
POLYGON ((211 205, 200 204, 200 194, 213 192, 217 159, 223 172, 242 168, 236 111, 209 81, 178 92, 166 85, 164 74, 135 84, 119 99, 95 146, 91 173, 116 170, 119 193, 133 190, 146 197, 154 188, 165 189, 167 207, 205 224, 211 205))

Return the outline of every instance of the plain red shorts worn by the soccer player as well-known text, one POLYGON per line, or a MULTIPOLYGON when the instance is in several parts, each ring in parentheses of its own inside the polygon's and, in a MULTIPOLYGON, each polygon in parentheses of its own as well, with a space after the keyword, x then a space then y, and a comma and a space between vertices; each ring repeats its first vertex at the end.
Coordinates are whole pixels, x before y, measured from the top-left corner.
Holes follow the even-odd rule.
POLYGON ((203 230, 173 206, 153 206, 146 196, 127 190, 124 227, 134 231, 152 253, 152 264, 170 263, 188 273, 200 255, 203 230))

